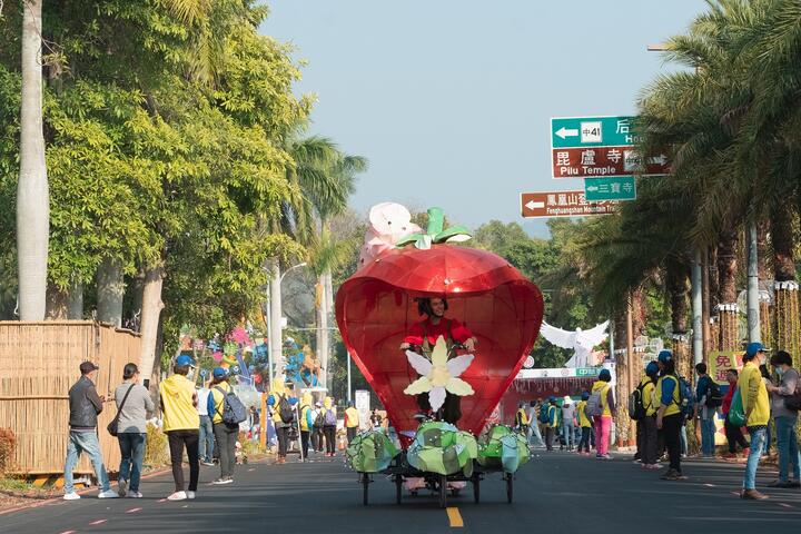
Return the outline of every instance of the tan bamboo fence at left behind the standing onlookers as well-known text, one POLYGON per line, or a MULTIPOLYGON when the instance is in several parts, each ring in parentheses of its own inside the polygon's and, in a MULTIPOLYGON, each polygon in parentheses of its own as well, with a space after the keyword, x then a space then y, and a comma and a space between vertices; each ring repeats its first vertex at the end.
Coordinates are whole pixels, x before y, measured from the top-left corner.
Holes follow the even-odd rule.
MULTIPOLYGON (((40 475, 63 472, 69 436, 69 388, 81 362, 100 370, 96 386, 106 396, 98 435, 107 469, 117 471, 117 438, 106 426, 117 413, 113 390, 129 362, 139 365, 138 334, 87 320, 0 322, 0 427, 17 436, 11 472, 40 475)), ((75 473, 92 473, 86 455, 75 473)))

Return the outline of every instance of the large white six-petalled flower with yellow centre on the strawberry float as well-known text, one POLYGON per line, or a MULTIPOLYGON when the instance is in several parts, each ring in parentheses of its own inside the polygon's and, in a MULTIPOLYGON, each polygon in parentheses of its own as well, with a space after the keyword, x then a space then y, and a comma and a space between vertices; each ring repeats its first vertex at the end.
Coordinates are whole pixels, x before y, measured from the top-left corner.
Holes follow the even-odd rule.
POLYGON ((428 403, 434 412, 445 404, 446 392, 461 397, 475 394, 473 387, 458 377, 473 363, 475 356, 463 354, 447 359, 447 345, 443 336, 439 336, 434 345, 431 362, 425 356, 412 350, 406 350, 406 357, 421 377, 409 384, 404 393, 419 395, 427 392, 428 403))

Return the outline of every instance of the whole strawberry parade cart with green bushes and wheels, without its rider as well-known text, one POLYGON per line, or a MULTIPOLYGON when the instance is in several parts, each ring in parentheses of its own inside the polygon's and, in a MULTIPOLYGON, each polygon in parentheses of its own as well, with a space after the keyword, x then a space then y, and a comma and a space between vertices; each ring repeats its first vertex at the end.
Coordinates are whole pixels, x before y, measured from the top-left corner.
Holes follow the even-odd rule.
POLYGON ((490 461, 487 448, 501 436, 491 435, 484 445, 476 436, 484 436, 487 418, 536 340, 542 294, 505 259, 447 245, 459 231, 443 229, 436 209, 428 215, 425 234, 366 261, 337 293, 336 318, 345 346, 386 408, 400 444, 397 449, 374 431, 360 434, 348 448, 348 463, 359 473, 364 504, 369 484, 378 477, 395 484, 398 503, 411 479, 418 482, 417 488, 436 493, 441 506, 446 505, 448 492, 457 494, 466 483, 473 485, 478 502, 481 481, 491 473, 501 474, 512 502, 514 472, 527 459, 525 438, 498 431, 518 436, 504 439, 515 455, 525 456, 516 464, 504 464, 503 447, 495 447, 498 462, 490 461), (404 354, 398 348, 422 318, 421 298, 447 299, 448 319, 468 327, 477 339, 473 354, 464 354, 458 346, 439 347, 442 337, 438 355, 437 347, 431 355, 404 354), (421 393, 431 396, 434 408, 425 417, 416 398, 421 393), (434 407, 446 395, 459 396, 461 416, 455 425, 442 421, 434 407))

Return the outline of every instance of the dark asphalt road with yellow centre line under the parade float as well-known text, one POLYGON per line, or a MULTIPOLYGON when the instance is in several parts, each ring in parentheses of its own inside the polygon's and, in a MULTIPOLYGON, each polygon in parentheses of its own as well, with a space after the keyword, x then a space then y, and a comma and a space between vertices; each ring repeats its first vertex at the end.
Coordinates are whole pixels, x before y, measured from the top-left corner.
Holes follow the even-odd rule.
MULTIPOLYGON (((596 461, 568 453, 537 452, 515 481, 506 503, 500 475, 482 483, 481 504, 469 487, 442 510, 434 496, 395 504, 395 487, 380 476, 362 504, 357 476, 340 458, 314 463, 238 466, 236 482, 211 486, 215 467, 201 467, 198 498, 166 502, 169 474, 142 481, 142 500, 98 500, 96 492, 63 502, 0 515, 0 533, 441 533, 462 532, 783 532, 801 521, 801 491, 772 490, 771 500, 745 502, 735 493, 742 465, 688 462, 688 481, 664 482, 630 456, 596 461), (463 527, 455 527, 462 523, 463 527)), ((775 478, 762 468, 758 486, 775 478)))

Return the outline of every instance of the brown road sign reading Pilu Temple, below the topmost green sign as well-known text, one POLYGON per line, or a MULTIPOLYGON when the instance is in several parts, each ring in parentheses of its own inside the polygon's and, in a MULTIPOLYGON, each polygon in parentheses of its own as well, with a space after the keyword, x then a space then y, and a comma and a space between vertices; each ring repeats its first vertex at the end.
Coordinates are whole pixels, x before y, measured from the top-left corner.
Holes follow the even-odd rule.
POLYGON ((604 176, 666 175, 668 156, 643 160, 632 147, 554 148, 551 151, 554 178, 600 178, 604 176))

